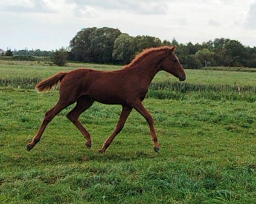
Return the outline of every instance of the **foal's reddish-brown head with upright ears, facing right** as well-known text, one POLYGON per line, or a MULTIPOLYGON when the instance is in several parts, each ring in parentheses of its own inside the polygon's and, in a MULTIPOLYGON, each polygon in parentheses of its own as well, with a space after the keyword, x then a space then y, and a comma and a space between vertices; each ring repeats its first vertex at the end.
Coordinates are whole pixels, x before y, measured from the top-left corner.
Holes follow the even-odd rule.
POLYGON ((175 49, 176 46, 173 46, 165 51, 166 57, 163 58, 160 64, 160 69, 171 73, 179 78, 180 81, 184 81, 186 79, 186 74, 179 59, 174 54, 175 49))

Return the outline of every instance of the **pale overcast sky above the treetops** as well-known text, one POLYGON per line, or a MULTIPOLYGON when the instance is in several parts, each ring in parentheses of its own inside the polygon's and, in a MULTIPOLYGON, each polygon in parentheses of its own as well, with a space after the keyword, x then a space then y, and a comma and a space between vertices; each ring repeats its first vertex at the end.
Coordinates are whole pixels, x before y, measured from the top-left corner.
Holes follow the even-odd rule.
POLYGON ((256 0, 0 0, 0 48, 67 47, 81 28, 256 46, 256 0))

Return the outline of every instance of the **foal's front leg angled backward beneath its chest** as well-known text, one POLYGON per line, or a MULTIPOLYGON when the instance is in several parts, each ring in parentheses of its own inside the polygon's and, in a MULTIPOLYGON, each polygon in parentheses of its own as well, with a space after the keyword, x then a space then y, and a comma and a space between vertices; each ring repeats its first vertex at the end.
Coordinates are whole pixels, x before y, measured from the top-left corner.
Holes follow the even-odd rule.
POLYGON ((122 128, 125 125, 125 121, 128 118, 129 114, 131 113, 132 107, 130 106, 123 106, 122 113, 119 116, 118 123, 116 125, 116 129, 111 134, 111 136, 108 137, 108 139, 104 142, 102 145, 102 148, 99 150, 99 153, 104 153, 105 150, 108 148, 108 146, 111 144, 115 136, 122 130, 122 128))

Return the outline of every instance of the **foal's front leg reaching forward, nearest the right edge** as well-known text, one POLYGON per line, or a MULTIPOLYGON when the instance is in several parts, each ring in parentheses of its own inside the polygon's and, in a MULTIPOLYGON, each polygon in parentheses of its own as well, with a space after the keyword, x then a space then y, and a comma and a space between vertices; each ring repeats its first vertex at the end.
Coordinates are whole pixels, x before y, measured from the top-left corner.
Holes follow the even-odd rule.
POLYGON ((152 116, 148 113, 148 111, 145 109, 145 107, 142 105, 140 100, 137 100, 136 102, 134 102, 133 104, 133 108, 138 111, 148 122, 149 125, 149 129, 150 129, 150 134, 151 134, 151 138, 154 142, 154 150, 159 153, 159 144, 157 142, 157 135, 155 133, 154 130, 154 121, 152 116))

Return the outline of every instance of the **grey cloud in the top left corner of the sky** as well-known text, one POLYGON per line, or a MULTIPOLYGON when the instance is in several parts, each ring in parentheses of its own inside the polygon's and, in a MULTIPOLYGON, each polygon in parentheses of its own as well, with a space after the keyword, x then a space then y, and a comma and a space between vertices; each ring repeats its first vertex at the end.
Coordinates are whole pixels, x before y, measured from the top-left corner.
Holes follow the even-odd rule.
POLYGON ((51 4, 47 0, 10 0, 3 2, 0 10, 15 13, 53 13, 51 4))

